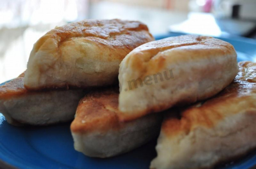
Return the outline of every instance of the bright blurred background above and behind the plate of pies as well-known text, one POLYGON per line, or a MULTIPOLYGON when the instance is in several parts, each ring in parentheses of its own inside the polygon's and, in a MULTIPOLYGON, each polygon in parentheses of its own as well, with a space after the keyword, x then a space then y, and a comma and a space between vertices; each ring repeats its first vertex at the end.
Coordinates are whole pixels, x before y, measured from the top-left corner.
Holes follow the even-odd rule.
POLYGON ((87 18, 139 20, 155 36, 256 39, 256 0, 0 0, 0 83, 26 70, 44 33, 87 18))

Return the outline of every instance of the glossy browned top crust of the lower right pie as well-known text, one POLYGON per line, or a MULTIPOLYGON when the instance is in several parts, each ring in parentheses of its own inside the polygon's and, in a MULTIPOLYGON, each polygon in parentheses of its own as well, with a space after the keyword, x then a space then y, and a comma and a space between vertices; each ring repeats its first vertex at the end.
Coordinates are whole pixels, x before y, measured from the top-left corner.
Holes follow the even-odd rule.
POLYGON ((238 65, 238 75, 222 92, 188 108, 176 108, 174 112, 180 112, 181 119, 166 116, 162 124, 165 135, 175 137, 179 132, 188 133, 196 126, 212 128, 226 116, 244 112, 245 108, 248 109, 248 113, 255 113, 249 108, 256 108, 255 100, 252 98, 256 96, 256 63, 244 61, 238 65), (242 101, 243 106, 238 106, 242 101))

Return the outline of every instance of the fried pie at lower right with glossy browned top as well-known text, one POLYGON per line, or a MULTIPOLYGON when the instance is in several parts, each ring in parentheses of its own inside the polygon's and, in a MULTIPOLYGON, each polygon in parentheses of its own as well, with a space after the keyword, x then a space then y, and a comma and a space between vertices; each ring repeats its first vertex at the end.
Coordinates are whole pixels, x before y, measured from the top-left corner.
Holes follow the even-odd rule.
POLYGON ((256 148, 256 63, 238 65, 218 95, 166 115, 151 169, 210 169, 256 148))

